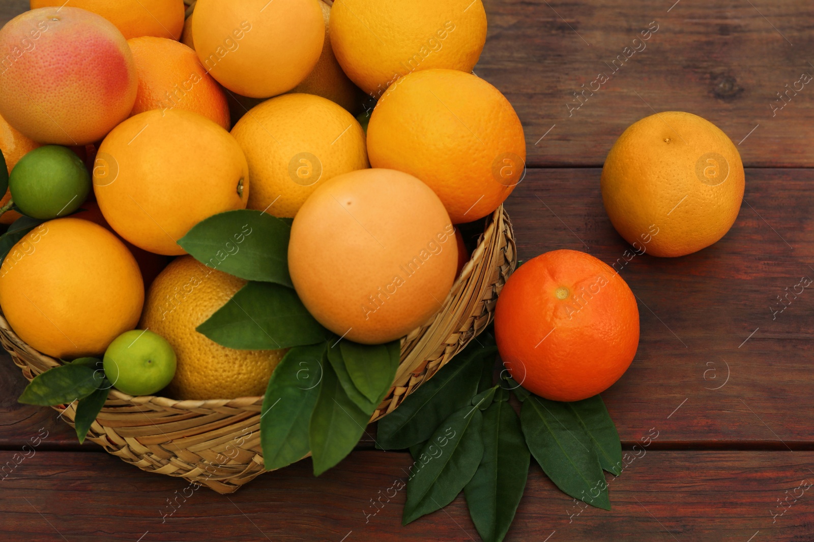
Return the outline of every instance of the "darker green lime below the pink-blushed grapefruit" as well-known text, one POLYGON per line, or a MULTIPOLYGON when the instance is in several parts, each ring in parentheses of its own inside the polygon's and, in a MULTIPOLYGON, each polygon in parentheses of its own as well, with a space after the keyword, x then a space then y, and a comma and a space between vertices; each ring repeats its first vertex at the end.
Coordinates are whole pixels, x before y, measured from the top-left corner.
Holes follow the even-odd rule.
POLYGON ((50 220, 70 215, 90 193, 85 163, 67 147, 34 149, 11 170, 11 199, 23 215, 50 220))

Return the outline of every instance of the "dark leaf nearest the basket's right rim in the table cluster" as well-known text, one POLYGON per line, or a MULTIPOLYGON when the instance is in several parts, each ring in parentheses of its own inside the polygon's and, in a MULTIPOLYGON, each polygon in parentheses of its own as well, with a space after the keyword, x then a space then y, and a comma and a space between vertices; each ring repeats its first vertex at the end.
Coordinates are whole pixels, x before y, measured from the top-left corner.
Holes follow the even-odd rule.
POLYGON ((445 418, 469 405, 483 373, 484 357, 494 358, 497 346, 472 341, 462 353, 379 421, 376 440, 382 449, 405 449, 427 440, 445 418))

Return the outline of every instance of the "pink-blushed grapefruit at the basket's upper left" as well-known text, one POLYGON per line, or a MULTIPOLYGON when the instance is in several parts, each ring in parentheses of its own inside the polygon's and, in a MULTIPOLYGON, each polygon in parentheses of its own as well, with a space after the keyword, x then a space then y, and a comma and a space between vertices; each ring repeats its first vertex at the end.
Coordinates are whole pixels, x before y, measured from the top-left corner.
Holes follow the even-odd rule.
POLYGON ((0 115, 39 143, 86 145, 127 118, 136 69, 109 21, 42 7, 0 29, 0 115))

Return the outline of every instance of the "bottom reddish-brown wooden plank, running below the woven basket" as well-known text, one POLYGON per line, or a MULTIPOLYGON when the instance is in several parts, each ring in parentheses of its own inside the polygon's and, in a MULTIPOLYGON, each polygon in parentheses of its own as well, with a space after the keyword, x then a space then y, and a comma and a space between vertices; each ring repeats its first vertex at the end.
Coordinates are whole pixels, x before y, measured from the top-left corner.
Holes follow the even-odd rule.
MULTIPOLYGON (((803 490, 814 483, 814 453, 637 454, 609 482, 610 511, 582 510, 532 466, 506 540, 760 542, 814 536, 814 492, 803 490), (786 505, 778 508, 778 501, 786 505)), ((0 453, 0 464, 10 460, 11 453, 0 453)), ((192 491, 183 480, 145 473, 116 457, 37 452, 0 482, 0 533, 4 540, 28 542, 479 540, 462 496, 444 511, 401 527, 405 491, 396 488, 411 462, 406 453, 355 452, 315 479, 306 460, 221 496, 206 488, 192 491)))

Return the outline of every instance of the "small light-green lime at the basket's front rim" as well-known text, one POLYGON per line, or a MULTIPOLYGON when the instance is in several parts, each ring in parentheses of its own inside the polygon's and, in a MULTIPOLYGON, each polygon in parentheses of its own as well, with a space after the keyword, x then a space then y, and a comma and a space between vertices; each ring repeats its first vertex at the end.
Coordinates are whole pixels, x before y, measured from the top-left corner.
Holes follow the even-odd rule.
POLYGON ((121 392, 152 395, 173 379, 175 351, 157 333, 134 329, 117 336, 107 347, 103 366, 107 379, 121 392))

